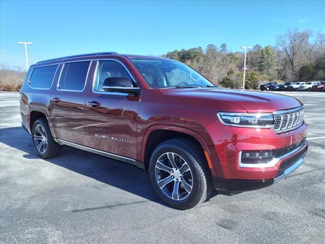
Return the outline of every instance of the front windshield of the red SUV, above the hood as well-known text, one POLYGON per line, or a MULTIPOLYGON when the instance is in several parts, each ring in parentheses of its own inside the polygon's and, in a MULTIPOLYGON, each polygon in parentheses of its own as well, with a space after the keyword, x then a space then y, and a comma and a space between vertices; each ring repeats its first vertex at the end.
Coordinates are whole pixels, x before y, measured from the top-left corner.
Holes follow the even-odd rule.
POLYGON ((214 86, 197 71, 170 59, 131 59, 150 88, 214 86))

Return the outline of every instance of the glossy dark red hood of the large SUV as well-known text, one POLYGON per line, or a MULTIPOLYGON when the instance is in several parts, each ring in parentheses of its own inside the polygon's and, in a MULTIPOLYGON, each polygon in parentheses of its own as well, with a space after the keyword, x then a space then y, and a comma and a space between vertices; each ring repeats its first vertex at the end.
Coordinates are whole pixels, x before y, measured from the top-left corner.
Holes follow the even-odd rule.
MULTIPOLYGON (((249 113, 274 112, 276 110, 290 109, 302 106, 296 98, 250 90, 222 89, 222 88, 170 88, 159 89, 161 94, 178 96, 188 99, 188 103, 196 103, 197 99, 205 99, 207 103, 229 102, 242 107, 249 113)), ((221 107, 218 107, 222 111, 221 107)))

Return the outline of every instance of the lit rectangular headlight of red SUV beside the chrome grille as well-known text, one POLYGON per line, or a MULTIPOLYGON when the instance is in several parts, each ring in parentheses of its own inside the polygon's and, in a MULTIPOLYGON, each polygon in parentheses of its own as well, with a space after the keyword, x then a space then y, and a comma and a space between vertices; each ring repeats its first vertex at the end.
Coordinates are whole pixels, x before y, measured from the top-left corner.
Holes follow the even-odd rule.
POLYGON ((273 128, 272 114, 263 113, 218 113, 220 121, 227 126, 273 128))

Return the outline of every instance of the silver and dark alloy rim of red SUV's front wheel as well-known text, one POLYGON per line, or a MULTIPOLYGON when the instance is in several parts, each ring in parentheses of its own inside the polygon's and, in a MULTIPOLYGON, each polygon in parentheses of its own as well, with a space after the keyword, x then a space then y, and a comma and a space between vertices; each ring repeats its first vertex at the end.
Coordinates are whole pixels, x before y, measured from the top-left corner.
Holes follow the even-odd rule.
POLYGON ((155 164, 155 177, 160 190, 173 200, 184 200, 192 191, 192 172, 178 154, 161 155, 155 164))

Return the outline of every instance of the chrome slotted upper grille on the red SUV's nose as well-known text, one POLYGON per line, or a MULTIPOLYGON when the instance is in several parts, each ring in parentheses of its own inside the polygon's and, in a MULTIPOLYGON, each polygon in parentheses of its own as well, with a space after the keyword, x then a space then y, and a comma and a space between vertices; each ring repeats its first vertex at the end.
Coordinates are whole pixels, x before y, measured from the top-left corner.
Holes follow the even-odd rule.
POLYGON ((282 133, 294 130, 301 126, 304 121, 303 107, 281 110, 274 113, 274 131, 282 133))

